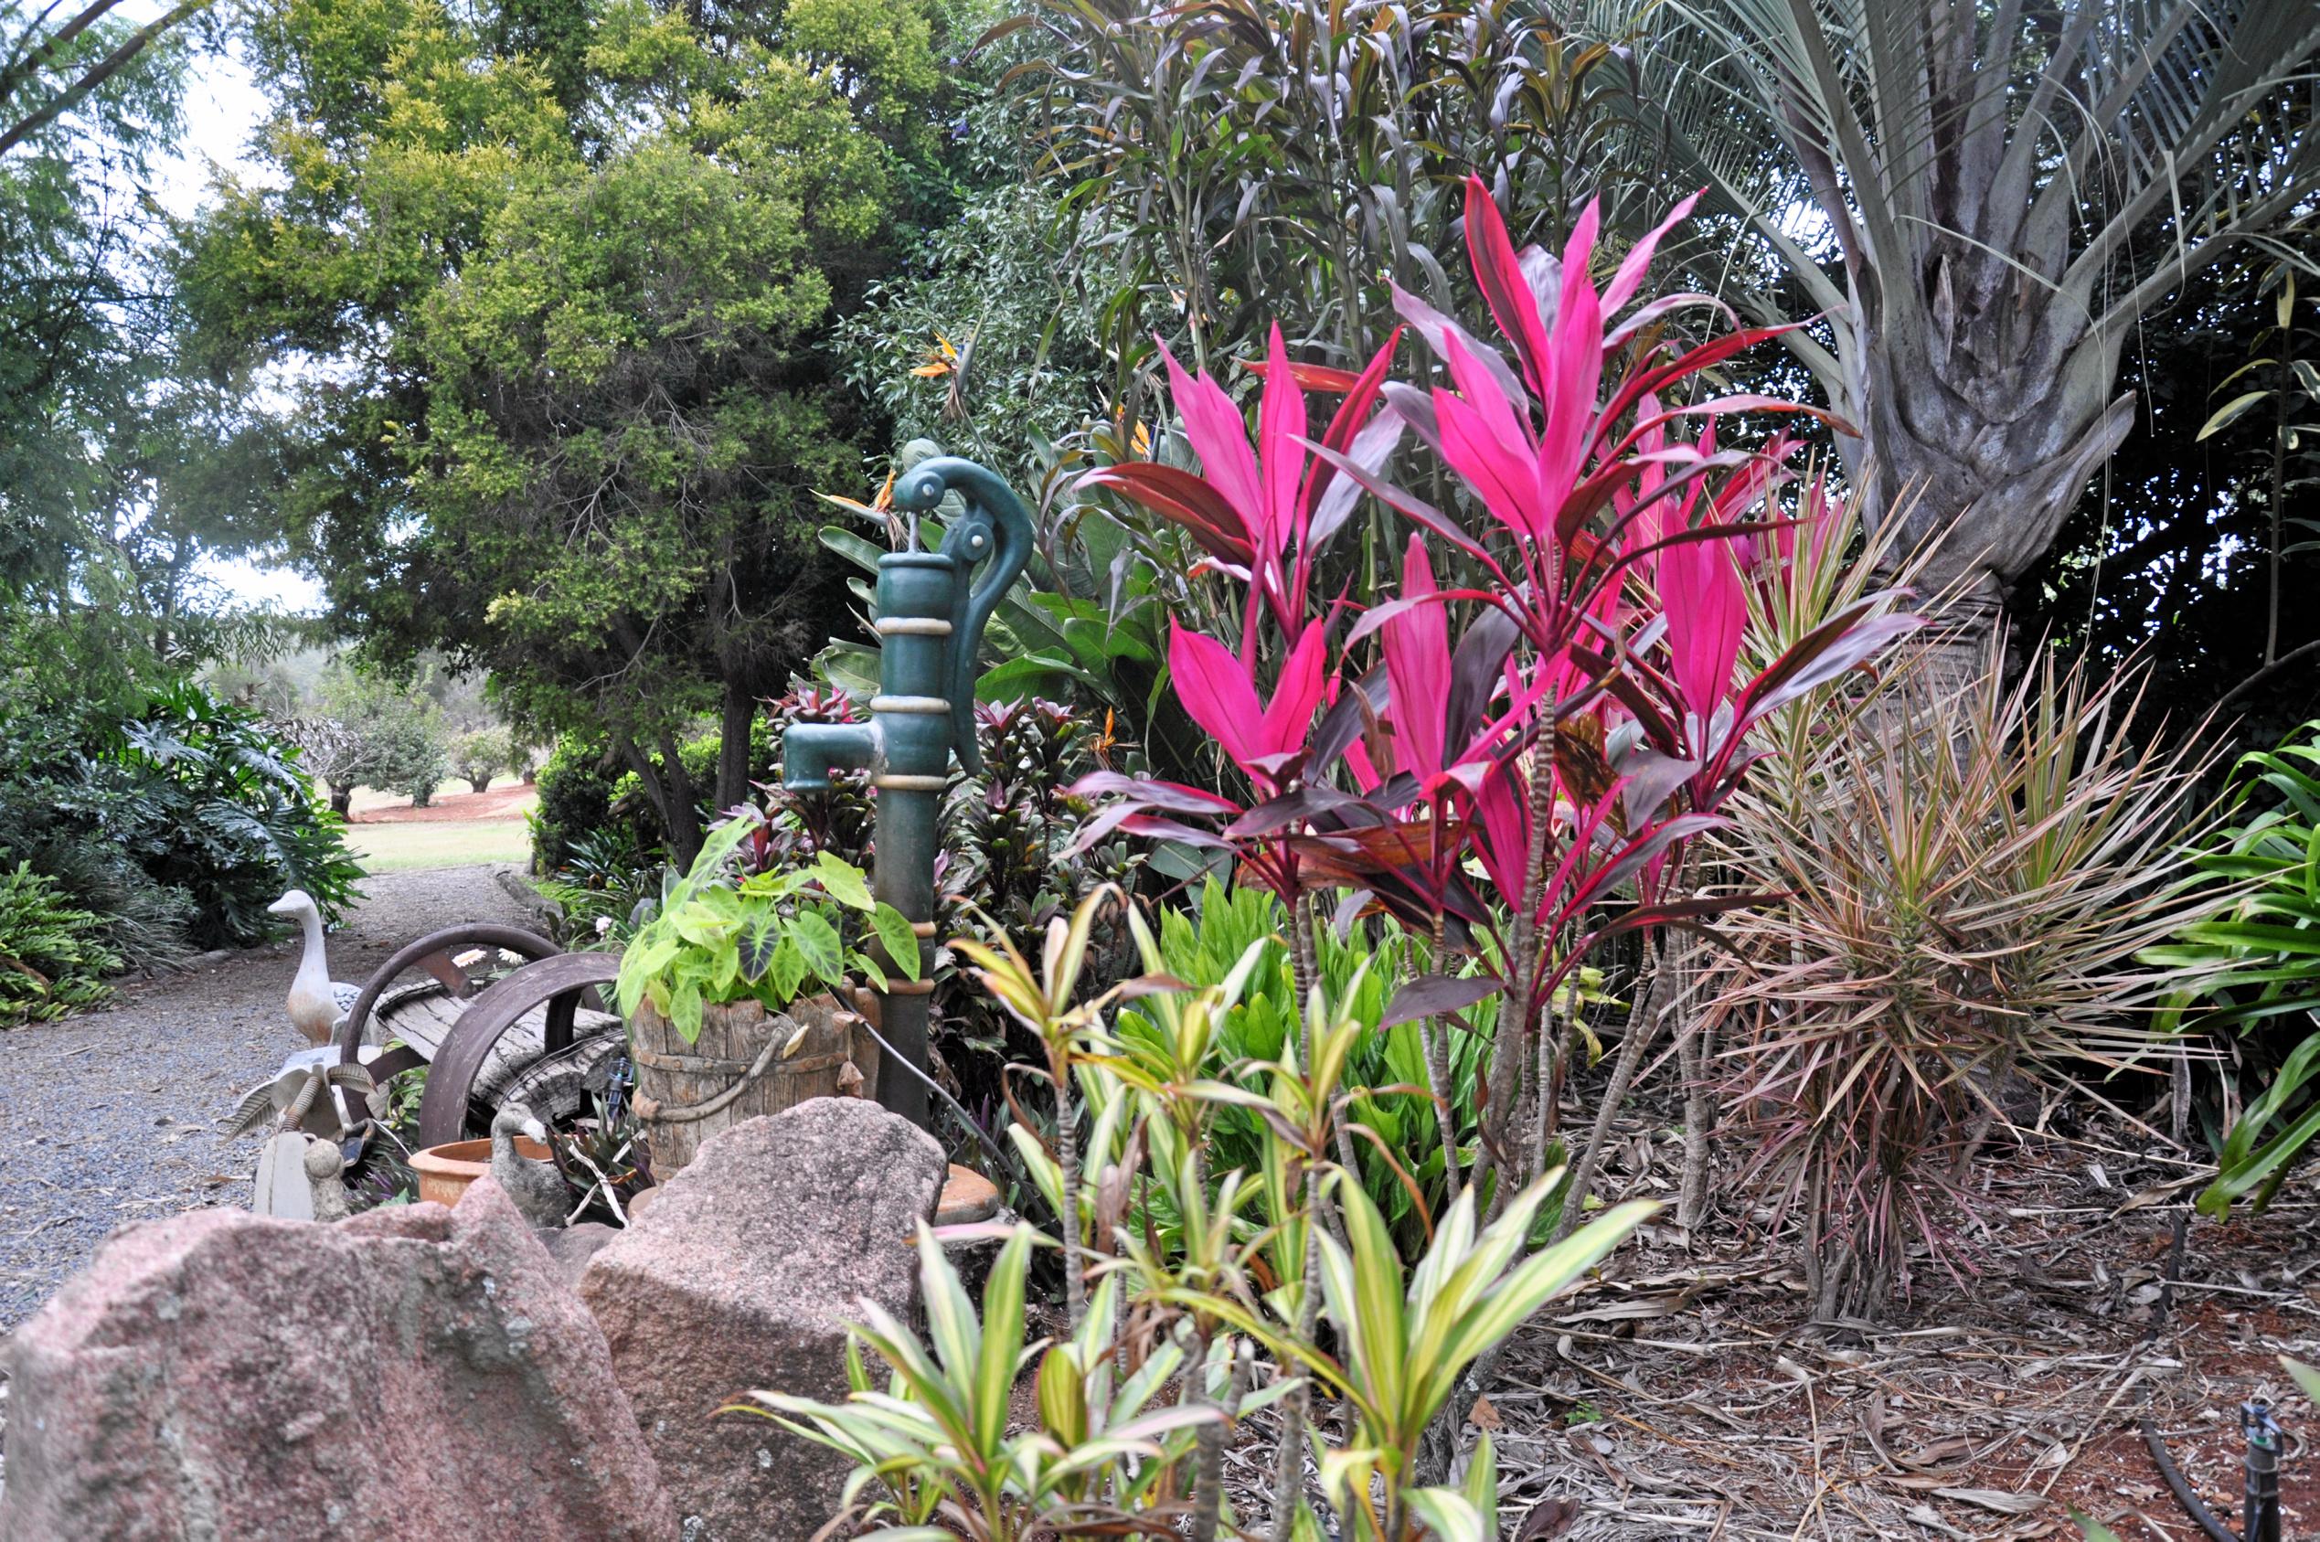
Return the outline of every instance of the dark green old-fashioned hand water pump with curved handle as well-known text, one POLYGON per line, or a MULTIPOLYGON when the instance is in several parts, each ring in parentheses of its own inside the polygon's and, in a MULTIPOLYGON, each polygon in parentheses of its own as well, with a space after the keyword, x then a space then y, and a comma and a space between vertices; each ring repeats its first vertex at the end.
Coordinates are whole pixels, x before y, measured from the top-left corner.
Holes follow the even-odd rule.
MULTIPOLYGON (((879 1037, 909 1062, 879 1074, 879 1101, 926 1129, 926 997, 933 992, 935 851, 951 754, 981 770, 974 742, 974 675, 984 624, 1030 561, 1032 522, 991 471, 954 454, 896 478, 896 508, 912 515, 909 550, 877 563, 879 693, 868 723, 796 723, 782 737, 782 786, 826 791, 833 770, 868 770, 877 788, 872 886, 919 934, 919 979, 893 974, 882 992, 879 1037), (916 515, 947 494, 942 550, 916 550, 916 515), (974 577, 977 568, 981 577, 974 577)), ((889 960, 891 962, 891 960, 889 960)))

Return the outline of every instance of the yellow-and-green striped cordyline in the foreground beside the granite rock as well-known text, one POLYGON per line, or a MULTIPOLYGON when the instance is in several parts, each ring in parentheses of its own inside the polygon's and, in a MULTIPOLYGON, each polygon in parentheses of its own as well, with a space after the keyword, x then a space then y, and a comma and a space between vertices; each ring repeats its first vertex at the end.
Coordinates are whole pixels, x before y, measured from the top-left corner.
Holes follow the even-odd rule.
MULTIPOLYGON (((1139 1032, 1107 1020, 1109 1002, 1058 1011, 1058 985, 1076 979, 1104 895, 1053 921, 1039 965, 1012 953, 998 930, 974 946, 981 976, 1012 1011, 1042 1023, 1097 1113, 1086 1148, 1100 1173, 1090 1206, 1097 1241, 1093 1287, 1051 1338, 1028 1329, 1032 1250, 1070 1241, 1032 1227, 965 1227, 951 1236, 1000 1241, 977 1315, 942 1236, 919 1236, 926 1340, 865 1303, 849 1350, 842 1403, 780 1389, 752 1394, 798 1435, 854 1465, 840 1526, 854 1535, 981 1537, 1030 1542, 1072 1535, 1155 1535, 1213 1542, 1230 1535, 1320 1537, 1306 1484, 1313 1456, 1336 1535, 1371 1542, 1485 1542, 1499 1535, 1496 1459, 1485 1440, 1455 1484, 1424 1482, 1420 1438, 1455 1398, 1462 1375, 1557 1292, 1598 1264, 1650 1203, 1617 1206, 1580 1234, 1531 1252, 1529 1238, 1554 1183, 1536 1178, 1496 1220, 1476 1190, 1438 1220, 1415 1266, 1385 1217, 1329 1162, 1332 1125, 1350 1092, 1341 1074, 1364 1032, 1322 992, 1308 997, 1297 1043, 1250 1078, 1206 1074, 1211 1034, 1246 983, 1262 944, 1223 985, 1139 985, 1139 1032), (1209 1125, 1225 1104, 1257 1111, 1264 1152, 1255 1171, 1209 1173, 1209 1125), (1322 1206, 1322 1190, 1334 1203, 1322 1206), (1327 1333, 1322 1331, 1327 1326, 1327 1333), (1260 1356, 1271 1370, 1260 1373, 1260 1356), (1014 1391, 1032 1377, 1032 1417, 1014 1391), (1225 1493, 1227 1435, 1269 1403, 1302 1405, 1313 1387, 1350 1410, 1339 1440, 1302 1419, 1271 1424, 1278 1468, 1271 1514, 1225 1493), (1269 1528, 1269 1533, 1267 1533, 1269 1528)), ((1146 967, 1158 944, 1130 911, 1146 967)), ((1360 979, 1355 981, 1355 990, 1360 979)), ((1051 1203, 1065 1173, 1028 1150, 1051 1203)), ((1063 1199, 1058 1213, 1074 1203, 1063 1199)), ((1248 1428, 1248 1426, 1241 1426, 1248 1428)))

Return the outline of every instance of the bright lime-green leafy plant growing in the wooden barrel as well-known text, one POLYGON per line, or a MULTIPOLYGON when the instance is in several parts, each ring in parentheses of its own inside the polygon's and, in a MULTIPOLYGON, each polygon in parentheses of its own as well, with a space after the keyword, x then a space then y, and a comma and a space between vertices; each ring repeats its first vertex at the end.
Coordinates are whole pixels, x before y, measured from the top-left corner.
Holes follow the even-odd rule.
POLYGON ((865 976, 884 985, 884 969, 861 951, 863 928, 905 976, 919 976, 909 921, 870 897, 858 867, 824 851, 807 865, 740 872, 742 849, 763 832, 754 812, 735 816, 710 832, 682 881, 670 879, 659 914, 622 951, 622 1018, 650 1002, 691 1043, 705 1006, 780 1011, 810 983, 842 990, 865 976))

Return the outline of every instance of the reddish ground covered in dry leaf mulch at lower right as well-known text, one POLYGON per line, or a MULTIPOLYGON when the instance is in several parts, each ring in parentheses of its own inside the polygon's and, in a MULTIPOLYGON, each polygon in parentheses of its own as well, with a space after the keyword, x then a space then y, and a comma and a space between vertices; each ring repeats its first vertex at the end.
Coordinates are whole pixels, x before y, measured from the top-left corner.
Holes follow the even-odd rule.
MULTIPOLYGON (((1647 1227, 1603 1280, 1527 1324, 1476 1421, 1520 1542, 2202 1537, 2144 1445, 2239 1526, 2239 1408, 2285 1426, 2283 1535, 2320 1537, 2320 1410, 2281 1370, 2320 1363, 2320 1203, 2176 1217, 2206 1171, 2118 1127, 2016 1136, 1986 1162, 1963 1278, 1921 1261, 1888 1322, 1814 1324, 1793 1231, 1647 1227), (2162 1310, 2162 1296, 2167 1308, 2162 1310)), ((1608 1180, 1673 1199, 1680 1145, 1638 1120, 1608 1180)), ((1673 1213, 1673 1210, 1670 1210, 1673 1213)), ((1260 1414, 1260 1421, 1264 1417, 1260 1414)), ((1262 1514, 1262 1447, 1234 1452, 1262 1514)))

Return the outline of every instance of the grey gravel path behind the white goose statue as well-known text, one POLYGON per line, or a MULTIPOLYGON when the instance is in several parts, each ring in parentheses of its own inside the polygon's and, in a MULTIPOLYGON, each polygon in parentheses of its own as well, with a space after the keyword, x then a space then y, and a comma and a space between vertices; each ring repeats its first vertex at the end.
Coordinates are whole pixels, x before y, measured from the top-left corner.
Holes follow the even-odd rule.
MULTIPOLYGON (((362 979, 422 932, 529 925, 494 867, 385 872, 329 939, 332 979, 362 979)), ((128 985, 116 1006, 0 1034, 0 1331, 32 1315, 104 1234, 204 1206, 246 1206, 258 1145, 218 1143, 241 1094, 304 1037, 283 1016, 299 944, 128 985)))

